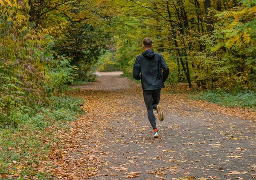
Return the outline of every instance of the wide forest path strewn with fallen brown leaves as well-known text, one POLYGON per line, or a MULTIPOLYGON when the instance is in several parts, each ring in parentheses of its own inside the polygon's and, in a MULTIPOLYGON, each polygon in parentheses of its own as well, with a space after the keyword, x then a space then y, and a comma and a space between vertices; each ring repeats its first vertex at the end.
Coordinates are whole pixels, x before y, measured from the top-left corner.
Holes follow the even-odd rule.
POLYGON ((57 179, 256 179, 255 113, 163 92, 153 139, 140 84, 119 75, 79 86, 87 114, 61 132, 57 179))

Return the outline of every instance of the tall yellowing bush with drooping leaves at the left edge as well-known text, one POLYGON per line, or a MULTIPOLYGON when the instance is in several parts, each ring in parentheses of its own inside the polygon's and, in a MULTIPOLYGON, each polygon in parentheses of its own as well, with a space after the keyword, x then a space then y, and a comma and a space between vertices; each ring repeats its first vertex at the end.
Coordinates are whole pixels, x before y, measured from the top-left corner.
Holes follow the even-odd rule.
POLYGON ((52 65, 53 41, 30 28, 20 6, 27 4, 1 6, 0 123, 4 124, 17 124, 20 120, 15 114, 47 104, 51 96, 47 67, 52 65))

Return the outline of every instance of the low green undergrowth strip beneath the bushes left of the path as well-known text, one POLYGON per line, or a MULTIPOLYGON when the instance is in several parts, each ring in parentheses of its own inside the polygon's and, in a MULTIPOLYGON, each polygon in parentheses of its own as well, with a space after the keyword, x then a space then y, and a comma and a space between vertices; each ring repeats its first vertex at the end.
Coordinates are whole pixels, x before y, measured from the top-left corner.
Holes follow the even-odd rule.
POLYGON ((0 128, 17 128, 27 122, 37 124, 38 127, 44 128, 46 127, 44 121, 47 121, 47 124, 59 120, 71 121, 76 119, 77 114, 84 112, 80 107, 83 104, 83 99, 80 98, 53 96, 50 98, 49 102, 49 105, 44 107, 36 107, 33 109, 22 106, 18 109, 13 108, 7 113, 1 113, 0 128))

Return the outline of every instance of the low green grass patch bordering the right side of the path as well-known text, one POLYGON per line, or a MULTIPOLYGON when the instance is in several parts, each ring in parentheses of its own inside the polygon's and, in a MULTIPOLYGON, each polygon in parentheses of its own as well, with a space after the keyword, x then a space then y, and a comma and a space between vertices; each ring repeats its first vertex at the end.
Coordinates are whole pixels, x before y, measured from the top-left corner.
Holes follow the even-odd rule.
POLYGON ((230 94, 223 91, 207 91, 192 95, 192 99, 206 100, 226 107, 246 107, 256 110, 256 93, 247 91, 245 93, 230 94))

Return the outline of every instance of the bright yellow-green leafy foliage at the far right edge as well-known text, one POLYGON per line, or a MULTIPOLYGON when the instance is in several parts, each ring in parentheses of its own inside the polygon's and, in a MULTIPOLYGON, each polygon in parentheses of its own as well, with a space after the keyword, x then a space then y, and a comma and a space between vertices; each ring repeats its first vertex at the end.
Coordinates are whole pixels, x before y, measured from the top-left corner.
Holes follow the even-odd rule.
POLYGON ((215 31, 202 37, 207 52, 197 56, 196 63, 203 66, 198 76, 207 82, 214 79, 213 87, 255 90, 255 11, 255 3, 242 1, 242 6, 217 12, 215 31))

